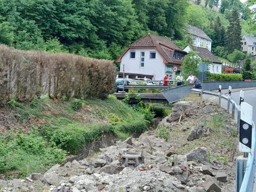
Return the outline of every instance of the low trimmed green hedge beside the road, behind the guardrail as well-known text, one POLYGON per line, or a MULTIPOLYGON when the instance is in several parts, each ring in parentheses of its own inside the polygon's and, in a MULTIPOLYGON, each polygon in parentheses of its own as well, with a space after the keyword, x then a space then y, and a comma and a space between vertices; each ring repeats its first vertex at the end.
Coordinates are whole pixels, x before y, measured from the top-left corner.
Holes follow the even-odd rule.
POLYGON ((243 81, 241 74, 209 74, 207 81, 243 81))

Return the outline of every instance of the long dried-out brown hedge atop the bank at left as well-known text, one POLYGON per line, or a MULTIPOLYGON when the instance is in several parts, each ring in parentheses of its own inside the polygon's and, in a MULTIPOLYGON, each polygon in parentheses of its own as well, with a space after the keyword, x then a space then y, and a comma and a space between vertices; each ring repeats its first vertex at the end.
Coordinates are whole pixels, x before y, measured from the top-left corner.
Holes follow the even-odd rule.
POLYGON ((112 61, 0 45, 0 101, 29 101, 42 94, 103 98, 113 92, 115 77, 112 61))

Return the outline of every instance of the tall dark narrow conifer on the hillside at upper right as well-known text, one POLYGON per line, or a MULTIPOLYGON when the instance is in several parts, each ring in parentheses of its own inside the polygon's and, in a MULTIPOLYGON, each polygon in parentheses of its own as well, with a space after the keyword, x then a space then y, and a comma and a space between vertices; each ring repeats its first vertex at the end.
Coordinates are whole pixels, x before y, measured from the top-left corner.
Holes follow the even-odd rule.
POLYGON ((241 25, 237 9, 232 10, 232 17, 229 20, 229 27, 226 35, 226 47, 229 53, 241 47, 241 25))

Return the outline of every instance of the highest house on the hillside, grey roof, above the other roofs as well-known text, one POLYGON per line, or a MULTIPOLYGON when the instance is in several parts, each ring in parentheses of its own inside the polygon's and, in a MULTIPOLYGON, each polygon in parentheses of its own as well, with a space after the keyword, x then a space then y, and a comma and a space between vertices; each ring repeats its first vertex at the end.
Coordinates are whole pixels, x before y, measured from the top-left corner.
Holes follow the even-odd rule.
POLYGON ((194 46, 212 50, 212 39, 202 29, 188 25, 187 32, 188 36, 193 38, 194 46))

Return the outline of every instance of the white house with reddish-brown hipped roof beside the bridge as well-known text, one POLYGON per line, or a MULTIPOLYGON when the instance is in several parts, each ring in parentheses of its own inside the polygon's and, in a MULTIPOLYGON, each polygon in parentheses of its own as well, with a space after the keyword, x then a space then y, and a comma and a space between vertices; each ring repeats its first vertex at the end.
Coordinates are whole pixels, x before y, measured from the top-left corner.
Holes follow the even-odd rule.
POLYGON ((129 45, 116 62, 121 63, 120 71, 125 74, 151 75, 154 80, 167 75, 173 80, 173 67, 180 69, 185 54, 171 39, 147 34, 129 45))

